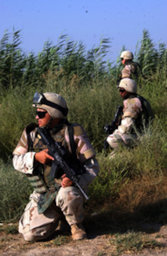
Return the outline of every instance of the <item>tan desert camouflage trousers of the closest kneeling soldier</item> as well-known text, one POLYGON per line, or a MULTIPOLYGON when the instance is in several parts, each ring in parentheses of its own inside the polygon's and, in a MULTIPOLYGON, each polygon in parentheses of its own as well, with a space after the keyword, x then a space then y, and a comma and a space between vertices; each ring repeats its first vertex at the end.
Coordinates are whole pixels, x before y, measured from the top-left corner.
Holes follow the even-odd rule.
POLYGON ((37 200, 40 194, 33 192, 24 213, 19 221, 19 233, 26 241, 44 240, 52 236, 58 222, 64 214, 66 221, 72 224, 81 223, 84 219, 83 196, 74 186, 61 187, 55 201, 43 214, 38 214, 37 200))

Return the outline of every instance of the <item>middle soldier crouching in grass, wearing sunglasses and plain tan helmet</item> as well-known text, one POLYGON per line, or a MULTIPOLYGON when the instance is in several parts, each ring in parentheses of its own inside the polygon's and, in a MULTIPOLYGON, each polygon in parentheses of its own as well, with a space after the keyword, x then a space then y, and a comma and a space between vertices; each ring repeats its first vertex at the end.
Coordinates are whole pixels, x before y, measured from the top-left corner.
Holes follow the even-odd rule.
POLYGON ((118 128, 106 139, 114 150, 119 150, 120 145, 133 147, 138 135, 142 135, 154 119, 150 103, 137 94, 137 84, 133 79, 123 78, 117 87, 121 98, 124 99, 123 115, 118 128))

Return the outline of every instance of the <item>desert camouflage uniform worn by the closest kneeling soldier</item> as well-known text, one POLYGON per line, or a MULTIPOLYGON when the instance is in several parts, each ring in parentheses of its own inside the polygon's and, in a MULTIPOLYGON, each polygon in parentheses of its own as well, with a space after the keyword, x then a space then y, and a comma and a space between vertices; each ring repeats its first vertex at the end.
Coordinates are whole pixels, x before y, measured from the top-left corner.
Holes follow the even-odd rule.
MULTIPOLYGON (((71 152, 66 125, 56 133, 53 130, 51 134, 54 140, 61 141, 71 152)), ((40 145, 41 140, 36 137, 36 130, 30 132, 30 137, 33 141, 34 150, 38 152, 40 147, 41 149, 46 148, 45 145, 40 145)), ((28 151, 27 139, 25 128, 17 147, 13 151, 13 166, 16 170, 26 174, 30 180, 33 180, 35 173, 34 155, 36 152, 33 150, 32 152, 28 151)), ((95 151, 81 126, 74 126, 74 140, 77 144, 77 158, 86 167, 86 172, 79 176, 80 179, 78 182, 87 193, 88 185, 91 184, 99 172, 99 165, 95 159, 95 151)), ((54 233, 62 213, 70 226, 72 224, 79 224, 84 219, 84 198, 80 190, 75 186, 63 188, 60 185, 60 179, 50 179, 50 168, 49 164, 43 165, 44 171, 42 177, 44 184, 47 184, 46 190, 41 185, 42 179, 39 176, 39 181, 35 180, 37 189, 34 189, 30 195, 30 201, 19 221, 19 233, 23 234, 24 239, 28 241, 43 240, 50 237, 54 233), (39 193, 39 191, 42 193, 39 193), (41 195, 47 195, 51 200, 48 203, 45 198, 45 207, 40 212, 38 206, 41 195)), ((36 177, 38 176, 36 175, 36 177)))

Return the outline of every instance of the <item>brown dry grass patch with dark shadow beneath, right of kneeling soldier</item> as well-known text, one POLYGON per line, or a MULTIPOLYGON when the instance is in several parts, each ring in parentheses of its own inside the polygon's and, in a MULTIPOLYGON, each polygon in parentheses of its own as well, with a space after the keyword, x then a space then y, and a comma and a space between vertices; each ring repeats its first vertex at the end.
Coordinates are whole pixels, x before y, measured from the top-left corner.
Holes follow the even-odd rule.
POLYGON ((144 222, 167 223, 167 177, 148 176, 129 180, 115 197, 101 204, 91 202, 86 208, 88 228, 108 229, 109 232, 140 229, 144 222))

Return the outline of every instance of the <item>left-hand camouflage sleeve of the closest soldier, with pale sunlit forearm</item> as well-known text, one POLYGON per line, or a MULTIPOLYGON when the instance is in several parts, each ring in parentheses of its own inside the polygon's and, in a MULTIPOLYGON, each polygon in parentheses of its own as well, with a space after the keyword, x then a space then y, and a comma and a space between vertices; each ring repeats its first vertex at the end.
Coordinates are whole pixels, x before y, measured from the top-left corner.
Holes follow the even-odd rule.
MULTIPOLYGON (((35 136, 35 133, 31 133, 31 136, 35 136)), ((27 149, 27 133, 26 129, 24 129, 17 146, 13 151, 13 166, 17 171, 25 174, 32 174, 35 152, 27 152, 27 149)))

